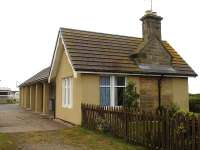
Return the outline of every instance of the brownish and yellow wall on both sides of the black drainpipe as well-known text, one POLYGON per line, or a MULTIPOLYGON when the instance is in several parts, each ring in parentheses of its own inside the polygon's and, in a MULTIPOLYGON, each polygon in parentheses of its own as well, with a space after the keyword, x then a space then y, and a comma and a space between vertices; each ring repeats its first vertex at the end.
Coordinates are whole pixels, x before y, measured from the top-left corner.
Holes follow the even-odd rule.
MULTIPOLYGON (((140 101, 144 110, 158 108, 158 77, 140 77, 140 101)), ((187 78, 162 78, 161 106, 176 104, 181 110, 189 110, 187 78)))

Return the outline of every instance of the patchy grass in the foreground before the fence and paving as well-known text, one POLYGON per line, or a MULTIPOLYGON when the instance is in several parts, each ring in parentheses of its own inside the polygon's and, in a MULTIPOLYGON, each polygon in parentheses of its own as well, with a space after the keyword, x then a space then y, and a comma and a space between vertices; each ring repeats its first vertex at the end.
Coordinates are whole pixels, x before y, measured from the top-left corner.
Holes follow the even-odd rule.
MULTIPOLYGON (((123 140, 112 138, 83 128, 68 128, 58 131, 0 134, 0 150, 41 150, 60 145, 69 150, 146 150, 123 140), (45 148, 42 146, 45 145, 45 148)), ((58 147, 56 149, 59 149, 58 147)), ((61 149, 61 148, 60 148, 61 149)))

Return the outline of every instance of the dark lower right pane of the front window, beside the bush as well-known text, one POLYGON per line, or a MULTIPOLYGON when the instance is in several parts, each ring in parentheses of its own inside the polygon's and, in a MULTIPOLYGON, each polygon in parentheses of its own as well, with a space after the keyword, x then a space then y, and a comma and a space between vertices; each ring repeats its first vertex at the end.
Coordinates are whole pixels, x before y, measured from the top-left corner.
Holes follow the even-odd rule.
POLYGON ((124 87, 115 88, 115 105, 122 106, 124 102, 124 87))

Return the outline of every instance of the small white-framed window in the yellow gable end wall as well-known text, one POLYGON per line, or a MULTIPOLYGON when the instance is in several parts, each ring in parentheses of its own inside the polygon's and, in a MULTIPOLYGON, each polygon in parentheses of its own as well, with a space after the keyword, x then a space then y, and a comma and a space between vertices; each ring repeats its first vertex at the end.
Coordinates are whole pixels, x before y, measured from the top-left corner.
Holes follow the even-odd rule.
POLYGON ((62 107, 72 107, 72 79, 62 80, 62 107))

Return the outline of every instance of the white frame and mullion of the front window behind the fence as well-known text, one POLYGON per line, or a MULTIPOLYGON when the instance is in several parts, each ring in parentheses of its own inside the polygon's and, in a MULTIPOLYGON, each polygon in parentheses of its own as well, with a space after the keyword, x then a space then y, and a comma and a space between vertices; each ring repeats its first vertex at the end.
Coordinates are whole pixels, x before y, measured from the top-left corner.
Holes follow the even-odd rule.
POLYGON ((116 104, 115 104, 115 88, 116 87, 126 87, 127 76, 122 76, 125 78, 125 86, 116 86, 115 85, 115 79, 116 79, 116 77, 119 77, 119 76, 111 75, 109 77, 110 77, 110 85, 100 85, 100 88, 101 87, 109 87, 110 88, 110 106, 116 106, 116 104))

